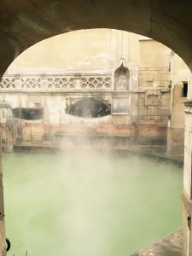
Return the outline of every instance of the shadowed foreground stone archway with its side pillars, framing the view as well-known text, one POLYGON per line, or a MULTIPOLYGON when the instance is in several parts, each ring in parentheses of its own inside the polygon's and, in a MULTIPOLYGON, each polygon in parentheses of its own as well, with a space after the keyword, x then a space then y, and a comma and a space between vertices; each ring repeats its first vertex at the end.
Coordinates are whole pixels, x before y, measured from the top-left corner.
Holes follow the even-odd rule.
MULTIPOLYGON (((191 10, 192 3, 189 0, 19 0, 16 4, 3 0, 0 8, 0 76, 3 76, 17 55, 45 38, 100 27, 154 38, 174 50, 192 69, 191 10)), ((191 215, 191 102, 186 103, 186 108, 185 220, 191 215)), ((0 192, 3 199, 2 179, 0 192)), ((3 201, 0 208, 0 255, 5 255, 3 201)), ((186 221, 183 226, 185 230, 188 229, 186 221)), ((184 239, 186 244, 192 243, 189 242, 190 236, 184 239)), ((187 251, 188 248, 185 255, 187 251)))

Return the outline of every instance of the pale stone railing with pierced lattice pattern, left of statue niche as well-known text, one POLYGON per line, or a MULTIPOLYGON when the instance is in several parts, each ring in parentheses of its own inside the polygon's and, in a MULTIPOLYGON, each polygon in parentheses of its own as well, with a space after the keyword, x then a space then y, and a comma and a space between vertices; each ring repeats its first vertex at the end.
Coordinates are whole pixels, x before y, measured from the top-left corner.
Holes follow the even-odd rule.
POLYGON ((111 90, 111 75, 42 75, 4 76, 0 83, 3 90, 111 90))

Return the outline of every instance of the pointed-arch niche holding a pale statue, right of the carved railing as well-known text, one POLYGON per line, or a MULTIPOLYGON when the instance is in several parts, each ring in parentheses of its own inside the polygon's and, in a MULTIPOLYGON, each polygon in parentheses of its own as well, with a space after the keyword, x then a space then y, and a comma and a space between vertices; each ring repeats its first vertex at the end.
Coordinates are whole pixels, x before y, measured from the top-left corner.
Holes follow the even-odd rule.
POLYGON ((114 72, 114 90, 130 89, 130 72, 123 63, 114 72))

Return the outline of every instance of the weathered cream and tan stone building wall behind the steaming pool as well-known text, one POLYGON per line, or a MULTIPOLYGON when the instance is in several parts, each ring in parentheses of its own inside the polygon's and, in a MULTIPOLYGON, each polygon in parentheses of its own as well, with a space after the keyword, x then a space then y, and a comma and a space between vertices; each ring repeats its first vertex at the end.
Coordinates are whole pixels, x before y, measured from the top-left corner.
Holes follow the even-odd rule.
POLYGON ((168 153, 181 154, 188 81, 188 67, 171 49, 131 32, 49 38, 3 76, 4 147, 167 145, 168 153))

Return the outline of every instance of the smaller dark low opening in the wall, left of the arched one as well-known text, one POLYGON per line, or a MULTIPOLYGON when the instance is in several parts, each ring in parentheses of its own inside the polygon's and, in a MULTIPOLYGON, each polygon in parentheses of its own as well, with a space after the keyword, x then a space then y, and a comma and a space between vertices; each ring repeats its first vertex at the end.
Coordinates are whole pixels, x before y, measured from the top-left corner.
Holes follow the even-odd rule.
POLYGON ((44 108, 13 108, 16 119, 38 120, 44 118, 44 108))

